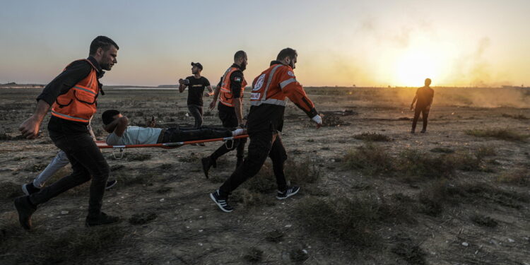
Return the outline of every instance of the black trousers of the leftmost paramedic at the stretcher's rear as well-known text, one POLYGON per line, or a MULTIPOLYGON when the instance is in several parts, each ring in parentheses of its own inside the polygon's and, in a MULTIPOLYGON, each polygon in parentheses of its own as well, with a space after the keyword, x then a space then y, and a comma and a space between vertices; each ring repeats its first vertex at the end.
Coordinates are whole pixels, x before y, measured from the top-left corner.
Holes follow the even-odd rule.
POLYGON ((64 134, 57 131, 49 131, 49 137, 55 146, 66 153, 73 172, 41 189, 40 192, 31 194, 30 201, 35 205, 43 204, 73 187, 88 182, 92 178, 90 199, 88 199, 88 216, 99 216, 110 172, 107 160, 100 152, 100 148, 96 146, 88 132, 64 134))

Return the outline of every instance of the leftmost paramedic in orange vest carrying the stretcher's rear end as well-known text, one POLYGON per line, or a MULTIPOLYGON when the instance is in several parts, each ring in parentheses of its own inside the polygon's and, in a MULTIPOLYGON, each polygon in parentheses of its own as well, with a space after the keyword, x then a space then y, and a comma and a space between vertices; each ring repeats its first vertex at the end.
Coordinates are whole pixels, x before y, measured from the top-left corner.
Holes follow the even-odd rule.
POLYGON ((77 187, 90 178, 90 199, 86 226, 115 223, 118 217, 107 216, 101 211, 105 185, 109 177, 109 165, 96 146, 87 129, 96 112, 96 101, 103 95, 99 78, 117 64, 118 45, 109 37, 98 36, 90 43, 87 59, 73 61, 50 82, 37 97, 35 113, 18 128, 27 139, 35 139, 40 124, 51 109, 49 138, 66 153, 73 172, 39 192, 15 199, 20 225, 31 229, 31 215, 37 206, 49 199, 77 187))

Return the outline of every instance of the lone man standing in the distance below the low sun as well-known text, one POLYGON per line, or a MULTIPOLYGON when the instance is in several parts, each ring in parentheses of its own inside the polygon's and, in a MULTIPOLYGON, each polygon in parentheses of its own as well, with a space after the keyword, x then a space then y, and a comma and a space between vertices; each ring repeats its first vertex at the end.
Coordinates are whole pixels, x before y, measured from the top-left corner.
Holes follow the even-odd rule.
POLYGON ((435 90, 430 88, 430 78, 425 79, 425 86, 418 88, 416 90, 416 96, 411 103, 411 110, 414 110, 414 119, 412 120, 412 130, 411 134, 414 134, 416 131, 416 123, 418 118, 423 119, 423 129, 421 130, 422 134, 425 134, 427 131, 427 119, 429 117, 430 105, 432 105, 432 98, 435 96, 435 90), (416 102, 416 100, 418 100, 416 102), (414 102, 416 102, 416 108, 414 107, 414 102))

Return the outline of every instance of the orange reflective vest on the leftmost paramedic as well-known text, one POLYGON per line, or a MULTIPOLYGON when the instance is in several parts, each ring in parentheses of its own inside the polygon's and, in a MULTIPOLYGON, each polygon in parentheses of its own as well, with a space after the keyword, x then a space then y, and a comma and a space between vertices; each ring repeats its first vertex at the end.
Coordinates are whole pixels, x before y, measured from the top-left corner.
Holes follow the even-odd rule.
POLYGON ((78 61, 83 60, 88 61, 92 69, 90 69, 90 73, 88 73, 86 78, 76 83, 68 92, 57 97, 52 105, 52 115, 55 117, 73 122, 88 123, 95 114, 96 100, 98 100, 100 93, 98 73, 95 70, 95 66, 88 59, 78 61))

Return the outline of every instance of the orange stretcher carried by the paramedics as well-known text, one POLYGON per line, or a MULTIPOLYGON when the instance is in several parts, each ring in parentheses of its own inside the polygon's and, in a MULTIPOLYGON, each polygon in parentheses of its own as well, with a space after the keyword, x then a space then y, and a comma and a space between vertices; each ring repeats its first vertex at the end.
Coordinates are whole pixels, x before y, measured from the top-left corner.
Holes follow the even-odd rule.
POLYGON ((225 137, 225 138, 215 138, 215 139, 203 139, 203 140, 195 140, 195 141, 182 141, 182 142, 176 142, 176 143, 153 143, 153 144, 130 144, 130 145, 120 145, 120 146, 109 146, 105 141, 96 141, 95 143, 98 145, 98 148, 100 149, 110 149, 112 148, 112 155, 114 155, 114 158, 116 159, 122 159, 123 155, 125 153, 125 150, 127 148, 151 148, 151 147, 158 147, 158 148, 164 148, 164 149, 173 149, 173 148, 179 148, 181 146, 186 146, 188 144, 194 144, 194 143, 208 143, 208 142, 215 142, 215 141, 224 141, 225 145, 227 145, 227 148, 232 148, 234 144, 235 139, 242 139, 247 138, 247 134, 238 135, 238 136, 231 136, 231 137, 225 137), (230 146, 229 146, 230 144, 230 146), (119 156, 116 155, 116 151, 119 152, 119 156))

